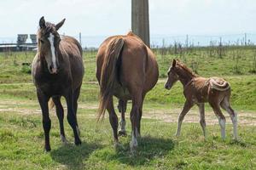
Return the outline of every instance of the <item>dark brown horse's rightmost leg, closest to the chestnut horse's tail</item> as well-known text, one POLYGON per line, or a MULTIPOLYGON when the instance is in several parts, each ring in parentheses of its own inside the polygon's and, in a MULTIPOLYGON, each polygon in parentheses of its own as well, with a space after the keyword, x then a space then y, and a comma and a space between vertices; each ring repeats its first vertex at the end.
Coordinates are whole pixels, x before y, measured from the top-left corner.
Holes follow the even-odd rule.
POLYGON ((67 101, 67 122, 73 129, 74 143, 76 145, 81 144, 81 140, 79 138, 79 127, 76 121, 76 115, 74 111, 74 101, 73 101, 73 91, 70 90, 65 96, 67 101))

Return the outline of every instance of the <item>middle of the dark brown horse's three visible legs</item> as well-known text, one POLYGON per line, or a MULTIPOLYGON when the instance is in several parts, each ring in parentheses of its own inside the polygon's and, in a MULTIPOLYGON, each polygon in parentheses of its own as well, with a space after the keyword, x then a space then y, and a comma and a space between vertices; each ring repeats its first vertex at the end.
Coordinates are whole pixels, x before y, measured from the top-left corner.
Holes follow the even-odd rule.
POLYGON ((61 96, 52 97, 52 100, 55 103, 56 115, 58 116, 59 123, 60 123, 61 141, 64 144, 67 144, 67 139, 65 136, 64 125, 63 125, 64 111, 63 111, 63 107, 61 105, 61 96))

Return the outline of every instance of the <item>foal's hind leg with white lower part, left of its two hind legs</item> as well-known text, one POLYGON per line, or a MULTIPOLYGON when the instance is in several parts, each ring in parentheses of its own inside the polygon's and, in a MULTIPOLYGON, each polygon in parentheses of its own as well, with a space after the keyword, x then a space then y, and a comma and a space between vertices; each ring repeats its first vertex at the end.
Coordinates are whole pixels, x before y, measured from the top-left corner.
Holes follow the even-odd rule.
POLYGON ((221 138, 225 139, 226 118, 223 115, 222 111, 220 110, 218 102, 209 102, 209 104, 212 106, 215 115, 218 117, 218 124, 221 128, 221 138))

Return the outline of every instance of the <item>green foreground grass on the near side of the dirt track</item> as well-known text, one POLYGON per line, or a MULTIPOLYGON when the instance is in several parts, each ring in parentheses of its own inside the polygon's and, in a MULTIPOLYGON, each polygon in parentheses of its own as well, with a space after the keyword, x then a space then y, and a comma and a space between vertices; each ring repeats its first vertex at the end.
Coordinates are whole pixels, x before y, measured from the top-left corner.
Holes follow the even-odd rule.
MULTIPOLYGON (((65 120, 69 144, 62 145, 57 118, 51 115, 51 152, 43 150, 44 133, 40 115, 22 116, 15 112, 0 115, 0 168, 4 169, 253 169, 256 166, 255 127, 240 125, 239 142, 220 139, 218 126, 207 126, 202 137, 199 124, 184 123, 182 136, 174 138, 176 123, 143 119, 143 137, 137 153, 129 149, 131 135, 121 137, 123 148, 113 148, 108 119, 96 124, 84 111, 79 111, 83 144, 73 144, 73 133, 65 120)), ((130 123, 127 123, 131 132, 130 123)))

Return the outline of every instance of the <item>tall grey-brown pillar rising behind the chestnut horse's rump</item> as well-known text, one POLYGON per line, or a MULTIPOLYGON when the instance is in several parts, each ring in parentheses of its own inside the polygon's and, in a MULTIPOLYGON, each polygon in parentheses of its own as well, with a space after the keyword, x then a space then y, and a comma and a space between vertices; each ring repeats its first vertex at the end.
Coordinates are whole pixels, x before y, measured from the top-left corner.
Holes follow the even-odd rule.
POLYGON ((150 47, 148 0, 131 0, 131 30, 150 47))

